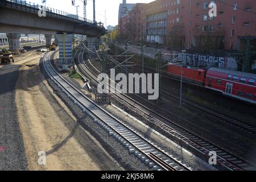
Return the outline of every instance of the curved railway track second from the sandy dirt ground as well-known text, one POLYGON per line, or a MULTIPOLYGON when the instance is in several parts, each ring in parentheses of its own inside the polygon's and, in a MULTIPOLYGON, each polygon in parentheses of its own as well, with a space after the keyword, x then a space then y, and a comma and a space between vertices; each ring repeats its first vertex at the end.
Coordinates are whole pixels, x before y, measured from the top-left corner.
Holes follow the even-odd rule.
MULTIPOLYGON (((83 59, 84 53, 81 52, 82 49, 80 50, 77 60, 80 68, 86 73, 86 75, 92 78, 92 81, 96 82, 97 84, 97 75, 96 73, 90 71, 88 66, 85 64, 83 59)), ((164 131, 167 131, 167 133, 170 134, 172 137, 183 141, 185 144, 188 144, 200 154, 209 157, 209 152, 216 152, 217 163, 225 167, 226 169, 231 171, 255 170, 255 166, 253 166, 246 160, 232 154, 232 152, 226 151, 225 149, 217 146, 217 144, 211 143, 208 140, 199 137, 198 135, 192 133, 191 131, 188 131, 182 126, 177 125, 170 119, 163 117, 162 115, 156 113, 148 107, 126 96, 125 94, 114 94, 114 96, 119 98, 119 100, 125 102, 126 105, 129 105, 136 109, 138 113, 141 114, 144 118, 148 119, 148 121, 155 123, 155 125, 158 125, 164 131)))

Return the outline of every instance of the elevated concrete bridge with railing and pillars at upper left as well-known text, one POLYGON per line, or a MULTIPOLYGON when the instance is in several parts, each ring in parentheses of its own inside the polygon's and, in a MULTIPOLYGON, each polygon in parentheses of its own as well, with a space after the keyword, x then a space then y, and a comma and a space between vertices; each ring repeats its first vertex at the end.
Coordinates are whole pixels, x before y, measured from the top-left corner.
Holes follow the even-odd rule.
POLYGON ((56 35, 60 53, 67 56, 72 52, 69 45, 73 34, 86 35, 88 44, 97 46, 106 33, 102 23, 28 1, 1 0, 0 17, 0 32, 7 34, 11 51, 19 49, 20 34, 45 34, 47 47, 51 45, 52 35, 56 35), (39 16, 42 10, 45 16, 39 16))

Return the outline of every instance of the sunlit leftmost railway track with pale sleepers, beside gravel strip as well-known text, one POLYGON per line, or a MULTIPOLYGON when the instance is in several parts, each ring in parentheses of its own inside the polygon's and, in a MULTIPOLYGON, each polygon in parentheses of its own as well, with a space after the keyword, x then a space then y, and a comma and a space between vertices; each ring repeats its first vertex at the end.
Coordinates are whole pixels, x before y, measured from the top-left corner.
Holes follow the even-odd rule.
MULTIPOLYGON (((55 51, 56 52, 56 51, 55 51)), ((95 102, 84 96, 79 90, 55 71, 51 64, 55 52, 48 52, 43 57, 43 65, 49 77, 63 90, 75 104, 98 123, 109 135, 122 143, 131 154, 140 158, 145 164, 155 170, 190 171, 191 169, 170 154, 143 137, 134 129, 119 121, 114 115, 102 109, 95 102)))

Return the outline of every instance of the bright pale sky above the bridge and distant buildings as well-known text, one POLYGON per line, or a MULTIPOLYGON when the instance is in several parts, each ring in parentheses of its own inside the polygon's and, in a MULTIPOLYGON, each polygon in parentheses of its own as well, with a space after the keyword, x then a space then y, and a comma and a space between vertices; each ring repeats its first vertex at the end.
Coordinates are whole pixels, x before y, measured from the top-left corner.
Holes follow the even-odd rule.
MULTIPOLYGON (((28 0, 28 2, 41 4, 42 0, 28 0)), ((96 21, 104 23, 105 26, 105 10, 106 23, 115 26, 118 24, 118 9, 119 3, 122 0, 95 0, 96 1, 96 21)), ((126 0, 126 3, 149 3, 154 0, 126 0)), ((84 16, 83 0, 75 0, 76 5, 79 5, 79 16, 84 16)), ((76 7, 72 6, 72 0, 46 0, 46 6, 57 10, 66 11, 67 13, 76 14, 76 7)), ((86 6, 87 19, 93 20, 93 0, 87 0, 86 6)))

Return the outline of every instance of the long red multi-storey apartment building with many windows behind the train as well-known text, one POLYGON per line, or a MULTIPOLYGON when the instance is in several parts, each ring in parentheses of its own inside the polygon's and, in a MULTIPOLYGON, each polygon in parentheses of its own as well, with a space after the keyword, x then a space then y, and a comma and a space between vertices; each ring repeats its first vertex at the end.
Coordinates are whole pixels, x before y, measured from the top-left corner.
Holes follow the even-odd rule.
POLYGON ((180 44, 182 48, 210 46, 244 50, 246 36, 256 46, 255 0, 157 0, 137 3, 119 18, 119 35, 127 32, 134 42, 180 44), (209 16, 209 3, 217 5, 216 17, 209 16))

